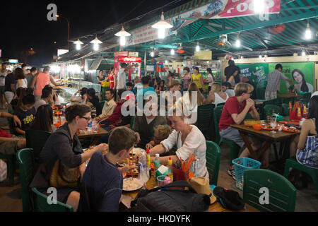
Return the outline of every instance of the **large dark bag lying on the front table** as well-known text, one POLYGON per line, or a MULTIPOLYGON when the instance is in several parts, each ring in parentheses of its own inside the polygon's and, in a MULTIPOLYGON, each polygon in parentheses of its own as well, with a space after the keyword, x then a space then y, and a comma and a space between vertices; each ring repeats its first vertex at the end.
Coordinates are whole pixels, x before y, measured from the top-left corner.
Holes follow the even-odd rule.
POLYGON ((177 181, 139 192, 129 212, 203 212, 210 206, 210 197, 198 194, 186 181, 177 181), (179 189, 179 188, 182 189, 179 189), (187 189, 184 189, 187 188, 187 189))

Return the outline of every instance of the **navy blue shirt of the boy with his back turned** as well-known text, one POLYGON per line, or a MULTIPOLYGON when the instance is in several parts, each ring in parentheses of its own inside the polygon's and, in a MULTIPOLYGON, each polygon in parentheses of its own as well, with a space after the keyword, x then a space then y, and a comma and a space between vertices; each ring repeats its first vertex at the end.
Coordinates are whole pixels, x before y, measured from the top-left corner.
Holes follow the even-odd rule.
POLYGON ((94 153, 81 183, 78 212, 118 212, 123 177, 100 152, 94 153))

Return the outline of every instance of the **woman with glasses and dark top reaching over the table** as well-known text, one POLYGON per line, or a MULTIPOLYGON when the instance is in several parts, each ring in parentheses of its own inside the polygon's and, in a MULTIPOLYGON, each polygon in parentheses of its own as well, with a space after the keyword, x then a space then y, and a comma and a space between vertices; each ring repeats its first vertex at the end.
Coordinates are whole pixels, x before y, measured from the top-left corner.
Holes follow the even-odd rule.
MULTIPOLYGON (((79 167, 81 177, 78 179, 82 179, 86 169, 86 161, 94 153, 105 152, 108 149, 106 144, 101 144, 83 153, 77 131, 86 130, 91 120, 90 107, 87 105, 71 105, 66 108, 65 114, 68 123, 59 127, 47 139, 40 153, 40 166, 37 168, 35 177, 30 184, 31 188, 36 187, 46 195, 49 195, 47 189, 52 187, 50 177, 57 160, 60 160, 69 169, 79 167)), ((79 198, 80 194, 76 188, 57 189, 57 201, 73 206, 75 212, 78 208, 79 198)))

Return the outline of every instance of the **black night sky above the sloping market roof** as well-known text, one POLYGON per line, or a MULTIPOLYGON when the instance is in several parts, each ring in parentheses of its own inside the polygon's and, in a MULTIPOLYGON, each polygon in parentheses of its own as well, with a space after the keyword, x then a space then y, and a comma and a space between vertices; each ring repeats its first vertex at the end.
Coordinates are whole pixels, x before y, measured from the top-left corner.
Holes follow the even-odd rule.
MULTIPOLYGON (((67 47, 67 23, 65 20, 48 21, 47 5, 57 5, 57 13, 69 18, 70 36, 79 37, 97 32, 114 23, 123 23, 141 16, 172 0, 107 0, 107 1, 1 1, 0 49, 2 57, 20 59, 23 49, 36 52, 28 58, 28 64, 42 66, 52 61, 57 49, 67 47), (54 44, 57 42, 57 44, 54 44)), ((167 11, 190 0, 179 0, 164 8, 167 11)), ((160 12, 153 16, 160 16, 160 12)))

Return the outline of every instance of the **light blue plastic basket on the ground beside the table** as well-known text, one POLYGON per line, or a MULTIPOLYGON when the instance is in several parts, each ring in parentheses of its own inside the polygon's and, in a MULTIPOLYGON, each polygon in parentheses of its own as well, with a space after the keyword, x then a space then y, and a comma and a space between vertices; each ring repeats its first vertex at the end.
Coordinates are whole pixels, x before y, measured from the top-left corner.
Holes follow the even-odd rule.
POLYGON ((253 160, 249 157, 241 157, 233 160, 235 169, 235 179, 237 189, 243 190, 243 176, 245 169, 259 169, 261 167, 261 162, 253 160))

